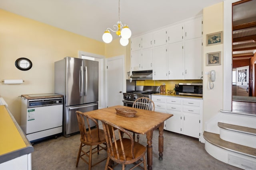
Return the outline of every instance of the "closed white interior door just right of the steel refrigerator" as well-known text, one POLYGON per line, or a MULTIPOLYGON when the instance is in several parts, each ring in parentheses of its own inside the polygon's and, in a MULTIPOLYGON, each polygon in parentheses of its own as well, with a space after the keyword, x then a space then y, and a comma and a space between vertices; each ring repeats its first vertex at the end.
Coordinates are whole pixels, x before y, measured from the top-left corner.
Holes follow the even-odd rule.
POLYGON ((124 56, 106 59, 106 107, 123 105, 124 56))

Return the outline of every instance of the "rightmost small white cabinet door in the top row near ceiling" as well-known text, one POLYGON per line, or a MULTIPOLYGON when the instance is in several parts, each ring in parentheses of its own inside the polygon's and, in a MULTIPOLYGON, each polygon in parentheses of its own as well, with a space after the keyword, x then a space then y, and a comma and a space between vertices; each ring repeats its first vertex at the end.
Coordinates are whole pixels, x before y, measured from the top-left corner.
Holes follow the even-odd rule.
POLYGON ((184 23, 185 40, 202 37, 202 18, 184 23))

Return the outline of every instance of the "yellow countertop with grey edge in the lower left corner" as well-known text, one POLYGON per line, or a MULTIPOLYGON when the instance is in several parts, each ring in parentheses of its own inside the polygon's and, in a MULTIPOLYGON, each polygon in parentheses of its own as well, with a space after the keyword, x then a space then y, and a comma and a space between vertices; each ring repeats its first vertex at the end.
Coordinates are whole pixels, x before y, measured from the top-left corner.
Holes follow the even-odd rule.
POLYGON ((0 106, 0 141, 0 164, 34 151, 6 105, 0 106))

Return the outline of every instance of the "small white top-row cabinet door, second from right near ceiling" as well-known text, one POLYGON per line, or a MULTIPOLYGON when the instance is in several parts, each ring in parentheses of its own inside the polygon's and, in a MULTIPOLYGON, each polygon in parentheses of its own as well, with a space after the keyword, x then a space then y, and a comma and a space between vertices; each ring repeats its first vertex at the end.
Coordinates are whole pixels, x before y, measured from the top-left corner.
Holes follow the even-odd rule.
POLYGON ((168 37, 167 42, 168 43, 176 43, 180 42, 183 39, 183 24, 182 25, 174 25, 170 27, 167 31, 168 37))

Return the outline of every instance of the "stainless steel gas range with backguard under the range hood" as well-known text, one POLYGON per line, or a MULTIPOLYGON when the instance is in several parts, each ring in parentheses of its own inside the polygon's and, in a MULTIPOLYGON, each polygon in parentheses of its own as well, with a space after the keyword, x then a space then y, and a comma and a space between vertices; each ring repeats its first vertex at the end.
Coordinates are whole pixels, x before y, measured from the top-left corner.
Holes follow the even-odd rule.
POLYGON ((141 91, 129 91, 124 94, 124 98, 122 102, 124 103, 124 106, 132 107, 134 101, 137 98, 150 98, 151 94, 160 93, 160 86, 142 86, 141 91))

